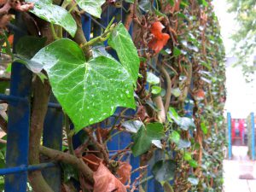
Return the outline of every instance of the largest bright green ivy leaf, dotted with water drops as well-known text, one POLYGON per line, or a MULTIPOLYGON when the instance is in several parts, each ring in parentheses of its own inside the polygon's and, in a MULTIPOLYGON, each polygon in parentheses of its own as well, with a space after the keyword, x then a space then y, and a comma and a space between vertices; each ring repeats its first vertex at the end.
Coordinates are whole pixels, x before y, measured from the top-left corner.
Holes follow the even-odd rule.
POLYGON ((125 68, 105 56, 85 61, 82 49, 72 40, 49 44, 32 61, 43 64, 76 131, 108 118, 117 107, 135 108, 132 79, 125 68))

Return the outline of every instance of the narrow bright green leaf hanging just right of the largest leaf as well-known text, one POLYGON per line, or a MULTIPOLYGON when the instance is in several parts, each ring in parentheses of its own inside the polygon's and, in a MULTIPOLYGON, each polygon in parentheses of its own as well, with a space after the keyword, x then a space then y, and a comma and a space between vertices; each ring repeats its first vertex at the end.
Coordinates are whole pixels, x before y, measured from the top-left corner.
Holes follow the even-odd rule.
POLYGON ((131 74, 133 83, 136 84, 140 59, 131 36, 122 23, 119 23, 119 25, 114 28, 108 39, 108 44, 116 50, 119 55, 119 61, 131 74))

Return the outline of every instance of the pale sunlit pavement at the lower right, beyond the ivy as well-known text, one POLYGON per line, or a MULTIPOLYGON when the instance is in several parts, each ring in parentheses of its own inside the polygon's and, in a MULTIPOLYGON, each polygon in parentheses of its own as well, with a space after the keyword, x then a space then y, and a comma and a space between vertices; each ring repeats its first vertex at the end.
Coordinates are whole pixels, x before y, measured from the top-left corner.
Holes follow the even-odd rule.
POLYGON ((233 160, 224 160, 224 192, 256 192, 256 161, 247 147, 233 146, 233 160))

